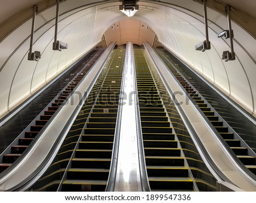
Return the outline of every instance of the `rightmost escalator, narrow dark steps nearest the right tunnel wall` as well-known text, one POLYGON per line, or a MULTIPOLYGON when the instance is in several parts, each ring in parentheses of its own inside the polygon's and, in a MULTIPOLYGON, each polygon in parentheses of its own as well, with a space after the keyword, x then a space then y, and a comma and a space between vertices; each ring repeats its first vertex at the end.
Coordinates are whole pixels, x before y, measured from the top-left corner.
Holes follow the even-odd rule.
MULTIPOLYGON (((172 74, 174 74, 177 81, 180 82, 185 91, 187 91, 191 98, 195 101, 195 103, 209 120, 210 124, 212 124, 212 126, 220 134, 220 140, 224 142, 224 145, 230 147, 234 153, 234 156, 236 156, 248 170, 256 175, 255 153, 248 145, 246 145, 245 141, 240 136, 238 136, 236 132, 234 132, 232 129, 233 126, 230 128, 225 119, 223 119, 222 116, 218 114, 218 112, 222 112, 223 115, 223 112, 226 112, 226 109, 221 108, 221 105, 217 105, 218 101, 216 99, 214 100, 214 96, 210 96, 209 93, 207 94, 207 92, 204 92, 204 96, 201 95, 201 87, 199 83, 193 81, 193 77, 195 76, 193 76, 191 73, 188 73, 184 68, 181 69, 178 64, 174 65, 174 63, 171 62, 170 56, 163 52, 163 50, 157 49, 156 53, 158 53, 164 64, 166 64, 168 69, 170 69, 172 74), (189 81, 191 81, 193 85, 189 81), (217 108, 213 108, 209 103, 214 103, 217 108)), ((225 113, 225 115, 227 114, 228 113, 225 113)), ((225 117, 227 116, 224 116, 224 118, 225 117)), ((233 115, 230 114, 228 117, 233 117, 233 115)), ((234 121, 232 121, 232 123, 233 125, 235 124, 235 129, 240 125, 239 123, 236 124, 234 121)), ((246 131, 247 129, 245 129, 243 133, 246 131)))

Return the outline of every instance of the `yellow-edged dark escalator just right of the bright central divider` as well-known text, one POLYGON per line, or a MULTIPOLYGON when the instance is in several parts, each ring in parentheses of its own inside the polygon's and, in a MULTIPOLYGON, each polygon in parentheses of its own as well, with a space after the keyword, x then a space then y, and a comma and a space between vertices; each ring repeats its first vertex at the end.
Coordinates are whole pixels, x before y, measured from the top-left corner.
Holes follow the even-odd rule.
POLYGON ((134 49, 144 155, 151 191, 193 191, 158 88, 141 49, 134 49))

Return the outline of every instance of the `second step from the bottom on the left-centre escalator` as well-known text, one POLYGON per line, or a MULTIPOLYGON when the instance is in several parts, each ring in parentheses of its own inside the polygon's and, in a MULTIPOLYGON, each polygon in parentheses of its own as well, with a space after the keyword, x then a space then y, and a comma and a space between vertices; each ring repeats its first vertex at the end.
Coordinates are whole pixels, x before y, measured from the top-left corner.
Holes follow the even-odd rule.
POLYGON ((70 168, 67 179, 73 180, 108 180, 109 169, 105 168, 70 168))

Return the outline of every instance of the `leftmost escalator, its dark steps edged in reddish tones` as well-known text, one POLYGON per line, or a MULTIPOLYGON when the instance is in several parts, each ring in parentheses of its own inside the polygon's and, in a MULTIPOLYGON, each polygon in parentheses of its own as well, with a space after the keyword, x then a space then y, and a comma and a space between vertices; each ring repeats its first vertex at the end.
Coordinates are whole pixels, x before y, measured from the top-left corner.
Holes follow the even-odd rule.
POLYGON ((90 67, 93 66, 103 51, 104 49, 98 50, 89 58, 88 61, 82 64, 81 70, 78 69, 75 72, 72 72, 70 75, 71 78, 65 79, 67 82, 71 79, 67 86, 65 86, 65 89, 61 88, 61 91, 58 92, 59 94, 57 94, 57 96, 55 95, 55 100, 52 100, 52 103, 48 104, 48 108, 44 108, 43 112, 38 113, 36 119, 27 126, 24 132, 20 134, 20 136, 16 138, 5 151, 3 151, 2 161, 0 163, 0 172, 9 168, 11 164, 13 164, 24 153, 24 151, 27 151, 26 149, 28 149, 30 143, 34 141, 35 138, 38 138, 39 132, 55 114, 57 109, 64 104, 65 99, 68 98, 77 84, 79 84, 82 78, 84 78, 90 67))

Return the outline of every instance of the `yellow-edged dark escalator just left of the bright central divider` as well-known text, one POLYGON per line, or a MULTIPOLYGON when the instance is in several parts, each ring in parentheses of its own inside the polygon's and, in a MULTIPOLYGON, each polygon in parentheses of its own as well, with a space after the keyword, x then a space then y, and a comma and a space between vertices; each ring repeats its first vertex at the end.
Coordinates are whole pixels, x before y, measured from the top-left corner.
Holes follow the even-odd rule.
POLYGON ((125 50, 115 55, 103 82, 96 82, 96 102, 72 158, 62 191, 105 191, 112 160, 115 123, 122 82, 125 50))

